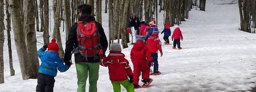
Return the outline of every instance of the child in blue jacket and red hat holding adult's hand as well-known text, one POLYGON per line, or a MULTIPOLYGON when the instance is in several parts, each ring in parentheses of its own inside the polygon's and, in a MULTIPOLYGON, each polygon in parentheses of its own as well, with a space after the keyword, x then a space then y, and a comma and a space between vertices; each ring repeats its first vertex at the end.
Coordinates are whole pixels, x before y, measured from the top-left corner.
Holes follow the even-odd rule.
POLYGON ((59 46, 55 39, 52 39, 51 43, 38 50, 38 57, 41 59, 41 65, 38 69, 36 91, 53 91, 57 69, 60 72, 65 72, 69 69, 71 63, 63 64, 59 57, 59 46), (45 51, 47 48, 48 50, 45 51))

